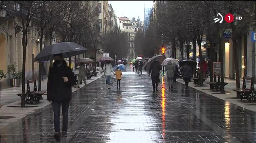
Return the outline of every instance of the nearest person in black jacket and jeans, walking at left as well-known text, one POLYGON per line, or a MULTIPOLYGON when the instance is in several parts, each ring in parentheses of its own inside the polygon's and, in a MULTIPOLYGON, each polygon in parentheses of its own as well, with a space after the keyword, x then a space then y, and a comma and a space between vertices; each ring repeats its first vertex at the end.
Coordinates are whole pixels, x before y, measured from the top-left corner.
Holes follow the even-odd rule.
POLYGON ((49 69, 47 82, 47 100, 52 101, 54 113, 54 138, 60 141, 60 106, 62 107, 63 125, 62 138, 67 138, 68 107, 71 100, 71 86, 75 84, 75 77, 61 54, 54 55, 55 62, 49 69))

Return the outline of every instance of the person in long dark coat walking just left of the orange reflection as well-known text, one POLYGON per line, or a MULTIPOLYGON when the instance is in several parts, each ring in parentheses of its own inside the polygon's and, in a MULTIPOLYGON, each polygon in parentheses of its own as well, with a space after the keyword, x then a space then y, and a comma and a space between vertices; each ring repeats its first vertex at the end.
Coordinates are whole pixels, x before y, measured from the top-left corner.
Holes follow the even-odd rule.
POLYGON ((149 74, 151 73, 151 80, 153 85, 153 91, 158 91, 158 83, 160 82, 159 76, 160 76, 160 70, 162 70, 162 66, 157 60, 152 60, 153 63, 151 64, 149 68, 149 74))

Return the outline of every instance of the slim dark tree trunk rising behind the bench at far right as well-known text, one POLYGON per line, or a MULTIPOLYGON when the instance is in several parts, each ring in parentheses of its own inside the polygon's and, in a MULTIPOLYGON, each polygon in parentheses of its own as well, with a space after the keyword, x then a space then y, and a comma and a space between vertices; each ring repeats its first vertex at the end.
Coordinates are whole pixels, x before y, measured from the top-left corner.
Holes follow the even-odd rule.
POLYGON ((239 77, 239 64, 238 60, 236 59, 238 57, 237 54, 237 42, 236 42, 236 31, 235 31, 235 25, 234 22, 231 23, 232 28, 232 41, 233 41, 233 63, 235 65, 235 82, 236 82, 236 88, 240 88, 240 77, 239 77))

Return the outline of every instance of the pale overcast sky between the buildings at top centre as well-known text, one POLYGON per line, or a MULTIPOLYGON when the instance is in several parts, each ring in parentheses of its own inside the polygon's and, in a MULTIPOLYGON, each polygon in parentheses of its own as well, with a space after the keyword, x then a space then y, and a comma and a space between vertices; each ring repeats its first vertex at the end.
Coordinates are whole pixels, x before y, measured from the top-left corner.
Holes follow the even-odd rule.
POLYGON ((139 16, 141 21, 144 21, 144 5, 145 5, 145 8, 152 8, 153 6, 153 0, 151 1, 109 0, 109 3, 112 5, 112 8, 115 11, 115 15, 117 17, 126 16, 131 20, 133 17, 137 19, 139 16))

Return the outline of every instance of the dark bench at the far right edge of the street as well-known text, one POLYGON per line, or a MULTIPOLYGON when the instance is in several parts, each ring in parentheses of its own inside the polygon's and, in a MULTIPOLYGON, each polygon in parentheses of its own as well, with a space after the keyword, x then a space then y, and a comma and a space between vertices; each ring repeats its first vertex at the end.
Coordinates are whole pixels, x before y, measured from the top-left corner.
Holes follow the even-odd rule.
POLYGON ((248 89, 246 88, 246 78, 243 77, 243 86, 242 88, 238 88, 238 89, 233 89, 236 92, 236 97, 240 98, 240 100, 242 99, 247 99, 248 102, 251 101, 256 101, 256 93, 254 90, 254 82, 253 82, 253 78, 249 78, 251 79, 251 88, 248 89))

